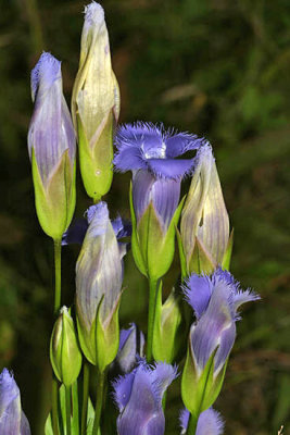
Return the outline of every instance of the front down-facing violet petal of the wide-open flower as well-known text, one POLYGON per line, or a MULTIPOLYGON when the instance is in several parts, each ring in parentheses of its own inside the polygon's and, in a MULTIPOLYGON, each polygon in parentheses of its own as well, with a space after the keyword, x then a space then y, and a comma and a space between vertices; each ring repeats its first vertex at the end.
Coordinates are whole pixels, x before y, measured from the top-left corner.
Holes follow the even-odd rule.
POLYGON ((157 177, 181 178, 188 174, 194 165, 194 159, 151 159, 148 161, 148 167, 157 177))

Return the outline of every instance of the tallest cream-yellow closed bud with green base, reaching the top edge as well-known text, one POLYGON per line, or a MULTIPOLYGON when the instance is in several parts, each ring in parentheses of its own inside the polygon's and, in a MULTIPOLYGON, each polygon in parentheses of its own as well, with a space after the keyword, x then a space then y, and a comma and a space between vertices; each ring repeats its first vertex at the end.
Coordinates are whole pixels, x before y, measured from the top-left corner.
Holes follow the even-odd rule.
POLYGON ((119 90, 111 64, 104 11, 94 1, 85 10, 72 113, 83 182, 88 196, 97 201, 112 183, 113 128, 119 113, 119 90))

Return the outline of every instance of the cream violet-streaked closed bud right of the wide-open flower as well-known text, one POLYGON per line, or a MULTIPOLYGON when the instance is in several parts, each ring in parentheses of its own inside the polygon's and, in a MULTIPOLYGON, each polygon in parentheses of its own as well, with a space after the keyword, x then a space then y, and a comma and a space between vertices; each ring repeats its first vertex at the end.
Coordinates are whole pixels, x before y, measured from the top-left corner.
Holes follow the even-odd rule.
POLYGON ((205 144, 181 213, 180 235, 187 273, 212 273, 218 264, 229 266, 232 240, 229 220, 212 147, 205 144))

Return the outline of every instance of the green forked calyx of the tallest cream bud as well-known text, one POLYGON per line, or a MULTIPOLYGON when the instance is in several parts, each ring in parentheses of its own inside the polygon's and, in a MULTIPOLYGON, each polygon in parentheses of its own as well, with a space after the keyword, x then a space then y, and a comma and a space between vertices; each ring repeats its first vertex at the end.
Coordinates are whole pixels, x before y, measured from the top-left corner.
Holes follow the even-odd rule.
POLYGON ((76 121, 81 178, 88 196, 96 202, 108 194, 113 179, 113 112, 99 126, 92 145, 78 113, 76 121))

